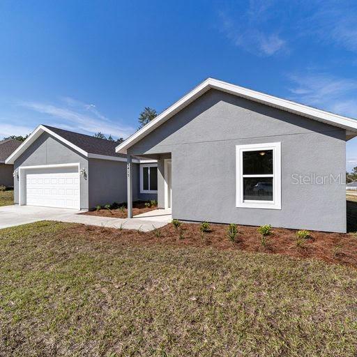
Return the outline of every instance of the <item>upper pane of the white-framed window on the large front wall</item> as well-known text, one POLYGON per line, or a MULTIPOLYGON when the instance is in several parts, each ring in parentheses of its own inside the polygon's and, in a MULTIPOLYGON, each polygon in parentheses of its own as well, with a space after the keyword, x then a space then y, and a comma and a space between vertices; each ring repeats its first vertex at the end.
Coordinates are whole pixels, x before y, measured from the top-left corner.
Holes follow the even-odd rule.
POLYGON ((243 151, 243 175, 273 174, 273 150, 243 151))

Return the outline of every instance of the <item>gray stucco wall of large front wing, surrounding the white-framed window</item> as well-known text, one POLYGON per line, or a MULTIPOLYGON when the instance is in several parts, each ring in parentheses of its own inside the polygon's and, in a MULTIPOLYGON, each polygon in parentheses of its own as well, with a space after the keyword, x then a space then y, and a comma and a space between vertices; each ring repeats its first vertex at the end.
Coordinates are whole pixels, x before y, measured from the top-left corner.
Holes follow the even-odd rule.
POLYGON ((344 179, 345 151, 342 129, 210 90, 128 153, 171 153, 174 218, 346 231, 345 185, 296 185, 292 176, 344 179), (265 142, 281 142, 282 209, 237 208, 236 145, 265 142))

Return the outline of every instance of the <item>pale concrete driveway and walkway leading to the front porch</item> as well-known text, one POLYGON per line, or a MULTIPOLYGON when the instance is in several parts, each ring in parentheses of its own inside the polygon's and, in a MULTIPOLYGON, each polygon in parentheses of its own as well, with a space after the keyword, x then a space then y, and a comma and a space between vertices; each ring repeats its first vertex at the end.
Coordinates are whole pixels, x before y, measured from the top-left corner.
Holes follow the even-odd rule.
POLYGON ((26 225, 40 220, 56 220, 59 222, 82 223, 99 227, 123 229, 140 229, 151 231, 171 222, 171 211, 155 210, 135 218, 96 217, 95 215, 81 215, 85 211, 75 211, 66 208, 34 207, 34 206, 3 206, 0 207, 0 229, 26 225))

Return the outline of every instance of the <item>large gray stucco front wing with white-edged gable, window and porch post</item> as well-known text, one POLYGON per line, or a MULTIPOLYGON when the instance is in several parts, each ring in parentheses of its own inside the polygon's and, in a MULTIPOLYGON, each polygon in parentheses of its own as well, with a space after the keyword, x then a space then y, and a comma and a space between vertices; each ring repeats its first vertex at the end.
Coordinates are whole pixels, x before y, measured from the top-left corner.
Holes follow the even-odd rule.
POLYGON ((346 231, 357 121, 208 78, 117 146, 158 160, 158 205, 188 221, 346 231))

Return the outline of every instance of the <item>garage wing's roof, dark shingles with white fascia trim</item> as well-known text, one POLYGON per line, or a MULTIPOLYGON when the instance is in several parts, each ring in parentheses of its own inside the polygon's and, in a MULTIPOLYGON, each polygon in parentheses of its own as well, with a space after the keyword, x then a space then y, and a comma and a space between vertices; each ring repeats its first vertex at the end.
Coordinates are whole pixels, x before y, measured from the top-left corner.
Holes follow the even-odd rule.
MULTIPOLYGON (((72 132, 52 126, 40 125, 31 135, 6 159, 7 164, 13 164, 17 158, 26 151, 26 149, 33 144, 33 142, 43 134, 48 132, 59 141, 70 146, 70 148, 78 151, 87 158, 98 158, 103 160, 114 161, 126 161, 126 155, 116 153, 116 142, 111 142, 106 139, 98 139, 98 137, 91 137, 90 135, 79 134, 78 132, 72 132)), ((133 160, 133 162, 139 162, 139 160, 133 160)))

